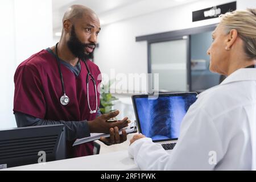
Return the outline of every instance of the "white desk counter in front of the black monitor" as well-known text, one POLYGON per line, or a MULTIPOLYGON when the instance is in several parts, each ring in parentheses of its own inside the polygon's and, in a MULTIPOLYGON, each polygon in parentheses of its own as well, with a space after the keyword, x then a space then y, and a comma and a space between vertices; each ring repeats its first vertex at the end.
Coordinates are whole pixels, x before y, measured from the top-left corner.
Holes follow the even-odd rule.
POLYGON ((8 171, 122 171, 139 170, 127 151, 57 160, 44 164, 31 164, 2 170, 8 171))

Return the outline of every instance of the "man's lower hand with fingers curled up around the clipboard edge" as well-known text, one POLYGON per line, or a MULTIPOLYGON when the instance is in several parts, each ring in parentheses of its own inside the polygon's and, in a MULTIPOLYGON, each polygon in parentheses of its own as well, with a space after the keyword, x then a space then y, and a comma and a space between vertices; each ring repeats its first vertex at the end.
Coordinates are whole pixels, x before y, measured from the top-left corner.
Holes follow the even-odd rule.
POLYGON ((127 140, 127 133, 125 130, 122 130, 122 135, 119 135, 118 127, 114 127, 114 129, 109 130, 110 137, 105 138, 101 137, 100 141, 105 143, 107 146, 112 144, 123 143, 127 140))

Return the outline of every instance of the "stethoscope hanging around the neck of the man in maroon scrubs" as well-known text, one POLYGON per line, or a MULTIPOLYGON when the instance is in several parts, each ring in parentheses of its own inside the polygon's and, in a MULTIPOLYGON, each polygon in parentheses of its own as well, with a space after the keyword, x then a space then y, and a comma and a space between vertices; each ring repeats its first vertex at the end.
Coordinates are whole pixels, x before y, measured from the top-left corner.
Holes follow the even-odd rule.
MULTIPOLYGON (((60 59, 59 59, 59 56, 58 56, 58 51, 57 51, 57 46, 58 46, 58 43, 56 44, 56 57, 57 57, 57 64, 58 64, 58 68, 59 68, 59 73, 60 73, 60 80, 61 80, 61 86, 62 86, 62 90, 63 90, 63 96, 60 97, 60 104, 65 106, 69 103, 69 97, 66 95, 66 92, 65 92, 65 87, 64 87, 64 81, 63 81, 63 75, 62 75, 62 72, 61 72, 61 69, 60 69, 60 59)), ((88 101, 88 106, 89 106, 89 109, 90 109, 90 114, 93 114, 93 113, 96 113, 97 112, 97 107, 98 107, 98 98, 97 98, 97 89, 96 89, 96 81, 94 79, 94 77, 92 76, 92 74, 90 73, 89 71, 89 68, 88 68, 88 65, 86 64, 86 61, 85 60, 82 60, 84 61, 84 64, 85 64, 85 67, 87 69, 87 76, 86 76, 86 85, 87 85, 87 101, 88 101), (96 109, 95 110, 92 110, 90 108, 90 103, 89 103, 89 81, 92 80, 93 81, 93 84, 94 84, 94 90, 95 90, 95 97, 96 97, 96 109)))

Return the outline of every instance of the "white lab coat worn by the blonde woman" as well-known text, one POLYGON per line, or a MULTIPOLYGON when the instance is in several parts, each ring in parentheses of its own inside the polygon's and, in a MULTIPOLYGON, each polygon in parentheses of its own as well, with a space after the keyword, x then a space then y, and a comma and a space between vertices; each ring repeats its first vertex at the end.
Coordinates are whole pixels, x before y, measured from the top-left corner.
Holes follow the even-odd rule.
POLYGON ((129 154, 142 170, 255 170, 256 69, 238 69, 199 94, 174 150, 143 138, 129 154))

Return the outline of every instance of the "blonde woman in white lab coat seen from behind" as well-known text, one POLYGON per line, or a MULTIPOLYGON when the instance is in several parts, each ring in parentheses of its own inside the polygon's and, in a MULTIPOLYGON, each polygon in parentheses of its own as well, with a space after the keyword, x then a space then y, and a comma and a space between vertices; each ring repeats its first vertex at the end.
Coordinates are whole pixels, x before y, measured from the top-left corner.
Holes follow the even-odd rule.
POLYGON ((256 169, 256 9, 220 18, 207 53, 210 71, 228 77, 199 94, 171 152, 134 135, 129 154, 142 170, 256 169))

